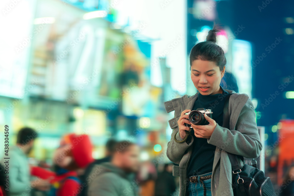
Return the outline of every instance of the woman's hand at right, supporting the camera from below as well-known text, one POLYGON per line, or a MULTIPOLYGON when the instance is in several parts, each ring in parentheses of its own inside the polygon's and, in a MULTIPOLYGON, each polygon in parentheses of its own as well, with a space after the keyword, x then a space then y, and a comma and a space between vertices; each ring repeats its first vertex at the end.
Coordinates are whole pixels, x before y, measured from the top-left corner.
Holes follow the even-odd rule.
POLYGON ((216 128, 216 121, 204 114, 204 118, 209 122, 208 125, 194 125, 191 126, 194 129, 194 135, 196 138, 206 138, 209 139, 216 128))

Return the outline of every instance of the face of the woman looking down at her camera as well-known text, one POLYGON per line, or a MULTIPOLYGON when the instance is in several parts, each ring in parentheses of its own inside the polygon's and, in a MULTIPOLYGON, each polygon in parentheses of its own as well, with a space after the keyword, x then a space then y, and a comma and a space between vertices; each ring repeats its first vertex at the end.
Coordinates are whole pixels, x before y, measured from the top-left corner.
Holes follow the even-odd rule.
POLYGON ((191 79, 201 95, 214 95, 222 93, 220 80, 225 73, 221 72, 213 61, 195 60, 191 65, 191 79))

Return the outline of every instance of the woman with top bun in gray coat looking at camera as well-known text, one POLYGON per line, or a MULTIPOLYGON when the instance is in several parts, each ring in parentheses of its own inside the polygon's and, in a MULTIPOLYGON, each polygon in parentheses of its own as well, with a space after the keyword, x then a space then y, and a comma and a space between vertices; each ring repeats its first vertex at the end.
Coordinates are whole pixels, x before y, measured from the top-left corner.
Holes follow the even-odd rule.
MULTIPOLYGON (((173 132, 166 154, 179 164, 173 167, 173 175, 180 177, 180 196, 233 195, 228 152, 256 158, 262 149, 252 101, 245 93, 220 86, 226 59, 223 49, 216 45, 219 30, 210 30, 206 41, 196 44, 190 52, 191 79, 199 92, 165 102, 168 113, 175 110, 174 118, 169 120, 173 132), (230 130, 222 127, 223 105, 229 93, 233 93, 229 98, 230 130), (208 125, 194 125, 188 120, 185 113, 198 108, 213 112, 212 118, 204 115, 208 125)), ((238 162, 243 167, 240 158, 238 162)))

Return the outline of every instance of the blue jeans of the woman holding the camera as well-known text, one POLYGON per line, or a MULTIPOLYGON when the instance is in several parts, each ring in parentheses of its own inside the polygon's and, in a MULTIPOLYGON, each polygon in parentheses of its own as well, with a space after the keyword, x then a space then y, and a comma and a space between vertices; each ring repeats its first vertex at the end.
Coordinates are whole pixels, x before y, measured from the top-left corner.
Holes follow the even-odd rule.
MULTIPOLYGON (((199 179, 200 176, 208 176, 211 175, 212 172, 194 176, 195 179, 197 177, 197 180, 199 179)), ((192 176, 190 176, 192 177, 192 176)), ((190 178, 189 177, 189 178, 190 178)), ((204 195, 204 189, 206 190, 206 196, 211 196, 211 179, 208 180, 203 180, 203 184, 201 183, 201 180, 198 180, 198 182, 191 182, 189 181, 189 186, 188 186, 188 196, 203 196, 204 195)))

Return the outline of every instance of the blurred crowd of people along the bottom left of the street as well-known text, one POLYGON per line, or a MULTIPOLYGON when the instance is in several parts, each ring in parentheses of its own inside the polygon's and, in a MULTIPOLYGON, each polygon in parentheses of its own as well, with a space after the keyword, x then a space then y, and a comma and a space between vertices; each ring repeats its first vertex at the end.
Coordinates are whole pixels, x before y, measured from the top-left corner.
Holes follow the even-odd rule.
POLYGON ((69 133, 61 138, 52 165, 44 161, 32 165, 28 154, 37 137, 32 128, 19 130, 16 145, 9 149, 8 178, 5 164, 1 165, 0 195, 178 195, 173 163, 140 161, 140 147, 136 143, 109 139, 105 157, 93 159, 90 137, 69 133))

